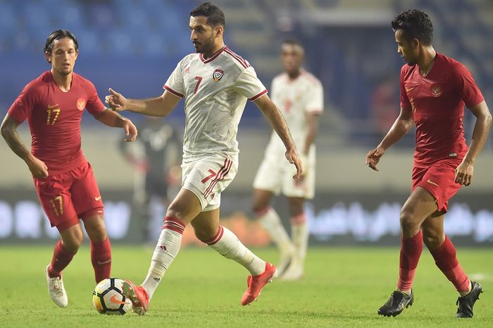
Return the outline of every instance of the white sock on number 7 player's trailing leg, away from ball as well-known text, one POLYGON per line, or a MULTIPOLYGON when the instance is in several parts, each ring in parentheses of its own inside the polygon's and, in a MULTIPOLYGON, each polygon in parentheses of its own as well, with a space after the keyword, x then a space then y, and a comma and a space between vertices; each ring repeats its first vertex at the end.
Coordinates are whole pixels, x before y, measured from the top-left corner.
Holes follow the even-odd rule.
POLYGON ((243 265, 252 276, 261 274, 266 270, 266 262, 251 253, 251 250, 239 241, 235 233, 223 226, 219 226, 217 238, 207 244, 220 255, 243 265), (221 229, 223 230, 222 233, 221 229))

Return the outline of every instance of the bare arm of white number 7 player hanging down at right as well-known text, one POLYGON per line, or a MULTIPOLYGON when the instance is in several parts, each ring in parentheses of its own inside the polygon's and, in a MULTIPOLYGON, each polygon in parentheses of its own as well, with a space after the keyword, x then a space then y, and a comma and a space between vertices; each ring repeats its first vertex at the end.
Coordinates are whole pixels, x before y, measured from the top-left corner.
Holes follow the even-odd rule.
POLYGON ((291 138, 291 133, 289 133, 289 129, 287 128, 286 121, 279 109, 275 107, 275 104, 270 100, 268 95, 263 95, 262 97, 255 100, 255 104, 266 116, 266 119, 269 121, 270 126, 273 127, 277 135, 281 138, 282 142, 286 147, 286 158, 289 163, 294 164, 297 169, 297 174, 293 176, 293 178, 299 178, 301 174, 303 174, 303 168, 301 166, 301 159, 299 157, 298 151, 296 149, 296 145, 294 145, 294 141, 291 138))

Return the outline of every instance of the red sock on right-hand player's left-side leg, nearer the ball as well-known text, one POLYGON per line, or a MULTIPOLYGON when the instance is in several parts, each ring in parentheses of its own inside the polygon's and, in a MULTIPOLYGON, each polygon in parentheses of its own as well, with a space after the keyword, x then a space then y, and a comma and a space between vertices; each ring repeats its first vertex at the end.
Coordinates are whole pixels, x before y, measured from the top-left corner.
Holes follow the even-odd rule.
POLYGON ((411 238, 401 238, 401 257, 399 261, 399 281, 397 288, 401 291, 411 289, 416 267, 423 252, 423 233, 419 231, 411 238))

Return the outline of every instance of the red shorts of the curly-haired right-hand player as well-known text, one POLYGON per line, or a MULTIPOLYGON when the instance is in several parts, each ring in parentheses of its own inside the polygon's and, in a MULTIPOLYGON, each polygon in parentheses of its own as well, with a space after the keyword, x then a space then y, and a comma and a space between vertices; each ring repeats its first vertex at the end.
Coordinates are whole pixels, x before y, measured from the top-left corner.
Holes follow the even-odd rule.
POLYGON ((460 183, 455 182, 455 169, 461 164, 462 159, 442 159, 429 167, 413 167, 413 187, 422 187, 428 190, 437 200, 438 211, 447 213, 449 200, 454 197, 461 188, 460 183))

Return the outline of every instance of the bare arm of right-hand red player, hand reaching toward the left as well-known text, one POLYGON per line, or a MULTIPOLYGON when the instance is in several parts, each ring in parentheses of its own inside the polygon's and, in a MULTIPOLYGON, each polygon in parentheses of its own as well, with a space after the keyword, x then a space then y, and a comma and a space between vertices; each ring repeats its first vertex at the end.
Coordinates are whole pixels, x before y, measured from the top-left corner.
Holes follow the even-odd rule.
POLYGON ((382 142, 380 142, 380 145, 366 154, 365 164, 370 166, 370 169, 378 171, 377 164, 380 162, 380 158, 382 158, 385 150, 404 137, 404 135, 411 130, 413 125, 413 111, 410 108, 405 109, 401 107, 401 114, 399 114, 399 117, 397 117, 394 124, 392 124, 392 127, 389 132, 387 132, 387 135, 385 135, 382 142))

